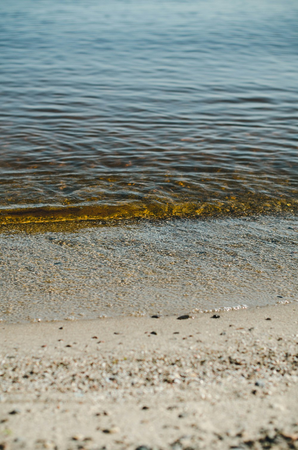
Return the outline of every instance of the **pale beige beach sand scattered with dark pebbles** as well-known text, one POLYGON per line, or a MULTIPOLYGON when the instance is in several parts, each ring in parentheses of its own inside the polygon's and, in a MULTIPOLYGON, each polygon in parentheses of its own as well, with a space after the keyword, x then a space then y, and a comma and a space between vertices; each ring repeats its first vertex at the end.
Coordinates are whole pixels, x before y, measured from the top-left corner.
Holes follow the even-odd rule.
POLYGON ((0 324, 0 449, 298 449, 298 304, 211 316, 0 324))

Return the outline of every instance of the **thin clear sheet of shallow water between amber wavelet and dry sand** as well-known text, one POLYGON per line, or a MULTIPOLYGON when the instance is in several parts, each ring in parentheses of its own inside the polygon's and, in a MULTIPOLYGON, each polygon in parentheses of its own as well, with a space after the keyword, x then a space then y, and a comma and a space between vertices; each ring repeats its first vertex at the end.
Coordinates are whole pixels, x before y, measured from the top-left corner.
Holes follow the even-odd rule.
POLYGON ((198 314, 298 300, 298 219, 0 235, 0 319, 198 314))

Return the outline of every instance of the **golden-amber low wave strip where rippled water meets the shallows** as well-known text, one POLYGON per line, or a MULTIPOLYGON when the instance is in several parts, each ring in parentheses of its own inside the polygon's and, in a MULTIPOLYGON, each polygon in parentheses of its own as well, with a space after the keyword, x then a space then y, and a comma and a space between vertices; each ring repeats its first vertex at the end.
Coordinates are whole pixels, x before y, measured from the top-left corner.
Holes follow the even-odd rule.
POLYGON ((118 220, 133 218, 220 217, 297 214, 298 200, 269 198, 259 194, 241 199, 212 202, 129 202, 119 205, 48 206, 0 210, 0 225, 74 220, 118 220))

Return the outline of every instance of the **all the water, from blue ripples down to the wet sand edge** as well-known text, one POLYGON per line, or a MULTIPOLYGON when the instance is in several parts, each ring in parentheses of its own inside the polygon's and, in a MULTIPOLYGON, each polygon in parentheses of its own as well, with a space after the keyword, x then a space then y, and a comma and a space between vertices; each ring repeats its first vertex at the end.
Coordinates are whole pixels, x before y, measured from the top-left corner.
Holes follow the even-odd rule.
POLYGON ((0 2, 0 319, 297 300, 296 0, 0 2))

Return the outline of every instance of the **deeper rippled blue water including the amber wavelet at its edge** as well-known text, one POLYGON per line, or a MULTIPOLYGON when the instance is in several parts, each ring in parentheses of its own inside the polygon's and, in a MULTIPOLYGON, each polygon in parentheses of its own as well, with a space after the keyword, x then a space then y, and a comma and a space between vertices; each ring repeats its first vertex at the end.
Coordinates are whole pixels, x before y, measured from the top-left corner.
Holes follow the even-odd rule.
POLYGON ((298 212, 295 0, 0 3, 0 222, 298 212))

